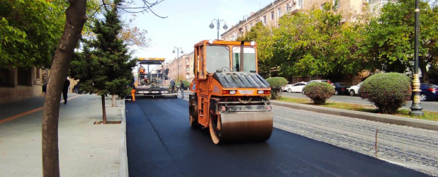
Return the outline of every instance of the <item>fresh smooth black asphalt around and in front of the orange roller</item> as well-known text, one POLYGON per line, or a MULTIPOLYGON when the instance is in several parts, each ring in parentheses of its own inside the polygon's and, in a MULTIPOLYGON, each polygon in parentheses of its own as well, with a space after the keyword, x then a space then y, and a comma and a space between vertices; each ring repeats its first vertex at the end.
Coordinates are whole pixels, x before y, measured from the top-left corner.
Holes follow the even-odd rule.
POLYGON ((130 176, 427 176, 277 128, 266 142, 215 145, 178 98, 126 102, 126 121, 130 176))

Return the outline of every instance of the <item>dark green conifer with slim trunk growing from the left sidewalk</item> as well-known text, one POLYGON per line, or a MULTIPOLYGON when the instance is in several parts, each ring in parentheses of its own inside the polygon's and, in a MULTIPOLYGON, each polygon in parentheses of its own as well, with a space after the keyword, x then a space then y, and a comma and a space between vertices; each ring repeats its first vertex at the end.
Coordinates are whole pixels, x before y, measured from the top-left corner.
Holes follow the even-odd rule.
POLYGON ((136 59, 130 59, 130 53, 123 40, 118 38, 122 25, 118 16, 120 1, 114 1, 112 8, 105 7, 104 21, 97 20, 91 31, 96 38, 84 45, 84 55, 78 55, 72 62, 72 77, 81 81, 80 86, 88 93, 97 93, 102 100, 102 119, 106 124, 105 96, 127 96, 126 86, 133 79, 131 73, 136 59), (91 51, 90 51, 91 50, 91 51))

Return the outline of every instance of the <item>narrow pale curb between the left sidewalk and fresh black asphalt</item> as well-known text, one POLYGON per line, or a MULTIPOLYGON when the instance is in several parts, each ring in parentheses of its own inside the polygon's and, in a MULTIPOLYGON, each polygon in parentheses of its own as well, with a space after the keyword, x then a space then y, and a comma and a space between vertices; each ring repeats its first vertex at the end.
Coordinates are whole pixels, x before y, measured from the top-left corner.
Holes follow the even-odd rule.
POLYGON ((128 177, 128 153, 126 152, 126 108, 125 108, 125 100, 122 100, 122 122, 120 125, 122 126, 122 133, 120 136, 120 157, 119 157, 119 169, 118 176, 120 177, 128 177))

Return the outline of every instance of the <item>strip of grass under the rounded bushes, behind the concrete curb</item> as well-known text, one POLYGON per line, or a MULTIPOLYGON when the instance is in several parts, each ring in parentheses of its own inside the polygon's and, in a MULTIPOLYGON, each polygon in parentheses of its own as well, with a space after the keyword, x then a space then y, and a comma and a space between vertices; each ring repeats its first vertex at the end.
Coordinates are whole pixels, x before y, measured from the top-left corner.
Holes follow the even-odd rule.
MULTIPOLYGON (((299 104, 308 104, 313 105, 310 98, 291 98, 291 97, 284 97, 282 96, 279 101, 284 101, 288 103, 299 103, 299 104)), ((356 110, 366 113, 377 113, 377 108, 371 105, 364 105, 364 104, 357 104, 357 103, 344 103, 344 102, 337 102, 337 101, 327 101, 324 105, 317 105, 327 108, 338 108, 338 109, 344 109, 344 110, 356 110)), ((423 113, 425 115, 423 116, 410 116, 409 115, 410 110, 406 109, 398 109, 396 116, 401 116, 405 118, 415 118, 415 119, 422 119, 422 120, 433 120, 438 121, 438 112, 434 111, 428 111, 423 110, 423 113)))

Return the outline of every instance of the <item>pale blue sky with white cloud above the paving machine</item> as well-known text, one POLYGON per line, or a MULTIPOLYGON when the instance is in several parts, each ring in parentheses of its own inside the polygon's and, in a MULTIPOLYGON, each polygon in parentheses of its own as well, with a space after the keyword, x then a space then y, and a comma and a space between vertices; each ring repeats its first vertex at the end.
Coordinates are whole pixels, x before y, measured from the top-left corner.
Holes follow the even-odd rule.
MULTIPOLYGON (((136 0, 142 4, 141 0, 136 0)), ((156 0, 149 0, 156 1, 156 0)), ((201 40, 216 39, 217 23, 213 19, 225 21, 228 29, 236 25, 244 16, 271 4, 272 0, 164 0, 152 10, 153 13, 137 13, 135 16, 125 13, 122 18, 133 18, 132 26, 147 30, 147 38, 151 39, 150 47, 131 47, 133 57, 159 57, 172 61, 177 57, 174 47, 181 47, 184 54, 193 52, 193 45, 201 40), (208 25, 213 21, 215 27, 208 25)), ((225 33, 223 22, 220 22, 219 34, 225 33)), ((180 50, 181 52, 181 50, 180 50)), ((179 54, 181 57, 181 53, 179 54)))

